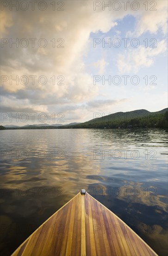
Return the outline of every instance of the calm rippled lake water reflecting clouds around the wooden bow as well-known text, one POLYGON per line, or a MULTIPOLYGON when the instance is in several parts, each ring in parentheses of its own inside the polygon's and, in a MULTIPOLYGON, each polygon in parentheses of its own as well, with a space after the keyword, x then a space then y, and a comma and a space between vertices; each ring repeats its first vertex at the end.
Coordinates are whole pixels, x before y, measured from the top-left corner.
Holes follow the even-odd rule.
POLYGON ((164 130, 5 130, 0 135, 1 255, 10 255, 81 189, 159 255, 167 255, 164 130))

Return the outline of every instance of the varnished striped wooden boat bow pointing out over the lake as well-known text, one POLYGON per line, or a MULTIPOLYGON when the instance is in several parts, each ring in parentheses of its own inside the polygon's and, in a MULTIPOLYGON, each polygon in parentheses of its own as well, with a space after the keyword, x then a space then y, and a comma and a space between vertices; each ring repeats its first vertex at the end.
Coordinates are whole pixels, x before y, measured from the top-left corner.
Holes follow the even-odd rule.
POLYGON ((82 189, 12 256, 157 255, 128 225, 82 189))

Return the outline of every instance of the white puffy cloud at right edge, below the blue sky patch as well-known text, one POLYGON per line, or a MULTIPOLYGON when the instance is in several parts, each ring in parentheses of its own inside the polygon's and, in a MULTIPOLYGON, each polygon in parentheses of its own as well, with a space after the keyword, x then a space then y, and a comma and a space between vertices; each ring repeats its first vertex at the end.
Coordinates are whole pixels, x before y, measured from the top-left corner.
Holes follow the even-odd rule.
POLYGON ((119 73, 130 73, 131 71, 137 73, 142 67, 150 67, 154 63, 154 57, 166 52, 166 50, 166 41, 162 40, 157 43, 156 48, 140 46, 125 51, 124 54, 118 54, 117 67, 119 73))

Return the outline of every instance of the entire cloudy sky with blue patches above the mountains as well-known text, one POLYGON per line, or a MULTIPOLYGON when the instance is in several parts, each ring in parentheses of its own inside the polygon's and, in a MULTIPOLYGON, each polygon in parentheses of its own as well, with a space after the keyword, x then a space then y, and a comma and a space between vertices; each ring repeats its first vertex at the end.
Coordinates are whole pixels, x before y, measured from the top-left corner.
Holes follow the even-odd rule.
POLYGON ((168 107, 167 0, 0 4, 1 125, 168 107))

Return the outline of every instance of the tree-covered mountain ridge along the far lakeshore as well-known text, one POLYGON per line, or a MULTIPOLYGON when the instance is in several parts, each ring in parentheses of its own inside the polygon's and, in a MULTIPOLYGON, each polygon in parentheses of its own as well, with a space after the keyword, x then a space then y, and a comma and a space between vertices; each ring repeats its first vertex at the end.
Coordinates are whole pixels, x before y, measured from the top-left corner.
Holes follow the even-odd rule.
MULTIPOLYGON (((100 113, 95 113, 99 114, 100 113)), ((101 116, 84 123, 69 124, 33 124, 23 127, 5 125, 6 129, 67 129, 67 128, 168 128, 168 108, 160 111, 149 112, 146 109, 138 109, 129 112, 117 112, 101 116)))

